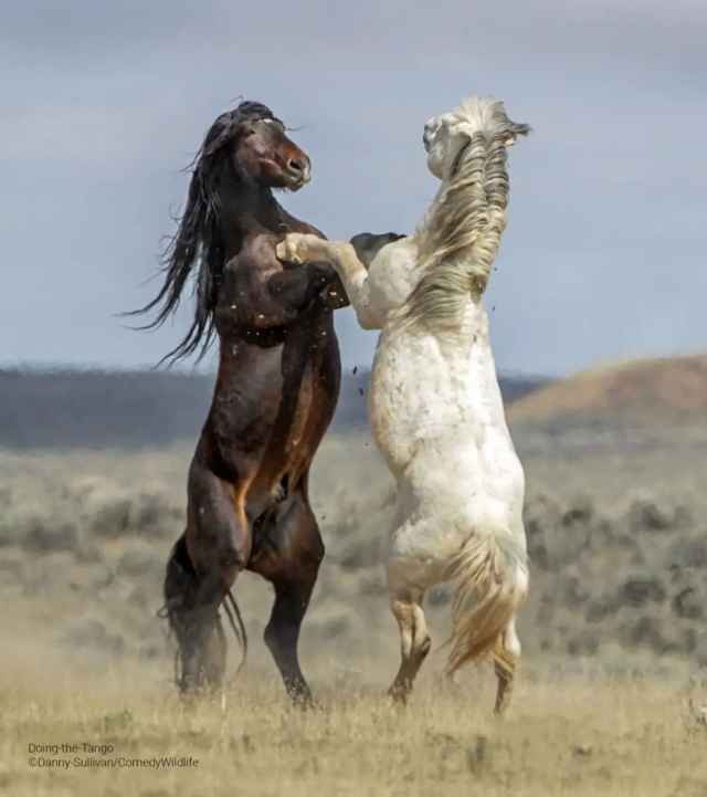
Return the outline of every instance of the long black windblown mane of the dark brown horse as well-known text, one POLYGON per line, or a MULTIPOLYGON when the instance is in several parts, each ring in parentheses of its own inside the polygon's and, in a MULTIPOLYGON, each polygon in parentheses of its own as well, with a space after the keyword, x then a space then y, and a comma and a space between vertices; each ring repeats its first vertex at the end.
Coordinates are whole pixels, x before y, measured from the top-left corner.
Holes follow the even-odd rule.
POLYGON ((221 181, 236 179, 247 182, 246 169, 238 169, 229 158, 228 148, 239 136, 244 123, 272 119, 284 125, 262 103, 244 102, 221 114, 209 128, 203 144, 187 167, 192 171, 184 211, 175 235, 162 256, 163 283, 157 296, 144 307, 127 315, 157 311, 155 318, 140 329, 161 326, 177 310, 190 277, 194 276, 194 315, 181 342, 160 360, 175 363, 200 349, 199 359, 208 352, 215 336, 214 311, 225 247, 221 231, 221 181), (238 174, 229 174, 230 170, 238 174), (196 274, 194 274, 196 271, 196 274))

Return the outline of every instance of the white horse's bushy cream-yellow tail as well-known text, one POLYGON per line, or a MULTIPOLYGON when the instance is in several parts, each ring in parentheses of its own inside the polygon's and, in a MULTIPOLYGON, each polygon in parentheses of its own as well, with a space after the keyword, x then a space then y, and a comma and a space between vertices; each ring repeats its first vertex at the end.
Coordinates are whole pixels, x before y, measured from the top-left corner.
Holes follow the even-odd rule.
POLYGON ((454 558, 447 674, 493 651, 528 590, 527 557, 506 533, 473 534, 454 558))

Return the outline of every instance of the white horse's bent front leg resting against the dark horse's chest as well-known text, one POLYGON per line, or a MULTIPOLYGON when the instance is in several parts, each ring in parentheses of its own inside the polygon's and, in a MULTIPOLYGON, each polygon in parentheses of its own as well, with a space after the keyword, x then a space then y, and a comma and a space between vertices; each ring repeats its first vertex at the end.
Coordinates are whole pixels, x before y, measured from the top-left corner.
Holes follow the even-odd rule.
POLYGON ((366 266, 350 243, 324 241, 316 235, 291 232, 277 244, 277 256, 292 263, 323 260, 331 263, 341 277, 346 294, 363 329, 380 329, 383 319, 373 312, 366 266))

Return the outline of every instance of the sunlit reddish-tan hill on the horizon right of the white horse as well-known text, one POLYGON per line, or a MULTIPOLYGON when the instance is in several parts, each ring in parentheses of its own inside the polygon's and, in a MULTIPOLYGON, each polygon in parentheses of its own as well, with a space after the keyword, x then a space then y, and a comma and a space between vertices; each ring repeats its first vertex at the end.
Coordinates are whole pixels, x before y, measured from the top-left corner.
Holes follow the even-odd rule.
POLYGON ((707 355, 631 360, 548 384, 510 408, 514 424, 707 421, 707 355))

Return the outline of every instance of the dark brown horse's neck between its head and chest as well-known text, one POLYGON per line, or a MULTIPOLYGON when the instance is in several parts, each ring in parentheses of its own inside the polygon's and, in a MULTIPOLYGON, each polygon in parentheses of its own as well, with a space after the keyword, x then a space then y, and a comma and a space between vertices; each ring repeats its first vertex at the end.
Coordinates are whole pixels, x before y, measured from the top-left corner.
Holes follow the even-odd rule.
POLYGON ((245 237, 258 230, 281 232, 288 218, 270 188, 243 180, 228 182, 221 191, 221 234, 225 259, 236 255, 245 237))

